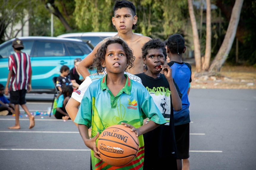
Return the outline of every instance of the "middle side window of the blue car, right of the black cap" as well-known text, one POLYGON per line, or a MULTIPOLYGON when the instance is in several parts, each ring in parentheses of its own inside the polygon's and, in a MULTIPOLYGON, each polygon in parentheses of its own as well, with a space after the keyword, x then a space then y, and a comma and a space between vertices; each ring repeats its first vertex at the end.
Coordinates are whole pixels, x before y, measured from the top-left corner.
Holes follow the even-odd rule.
POLYGON ((34 56, 68 56, 68 53, 64 46, 64 43, 37 41, 34 56))

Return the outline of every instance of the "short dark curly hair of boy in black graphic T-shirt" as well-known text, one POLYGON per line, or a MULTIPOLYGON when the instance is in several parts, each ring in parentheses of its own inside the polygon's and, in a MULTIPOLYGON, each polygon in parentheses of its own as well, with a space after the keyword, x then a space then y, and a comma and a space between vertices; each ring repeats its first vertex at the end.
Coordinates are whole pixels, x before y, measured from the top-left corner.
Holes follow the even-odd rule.
POLYGON ((144 46, 142 47, 142 57, 146 58, 146 56, 148 55, 148 51, 151 49, 162 49, 166 59, 167 54, 166 54, 165 43, 161 41, 159 38, 150 40, 144 44, 144 46))

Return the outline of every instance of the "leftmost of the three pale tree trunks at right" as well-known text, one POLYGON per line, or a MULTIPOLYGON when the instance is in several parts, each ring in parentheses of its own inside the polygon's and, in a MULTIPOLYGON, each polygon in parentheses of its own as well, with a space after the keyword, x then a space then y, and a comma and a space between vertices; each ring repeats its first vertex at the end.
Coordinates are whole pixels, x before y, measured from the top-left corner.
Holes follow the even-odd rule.
POLYGON ((196 25, 192 0, 188 0, 188 8, 189 8, 189 16, 190 16, 190 21, 191 21, 192 31, 193 31, 196 72, 199 73, 201 72, 201 53, 200 53, 200 43, 198 38, 197 25, 196 25))

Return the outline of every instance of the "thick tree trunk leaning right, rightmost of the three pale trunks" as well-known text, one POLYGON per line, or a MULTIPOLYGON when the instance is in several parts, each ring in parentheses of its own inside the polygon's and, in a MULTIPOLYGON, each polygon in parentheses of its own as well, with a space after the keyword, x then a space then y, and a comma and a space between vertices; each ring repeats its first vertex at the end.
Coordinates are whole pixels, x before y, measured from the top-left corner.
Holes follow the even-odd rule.
POLYGON ((227 56, 230 52, 230 49, 232 47, 232 44, 236 35, 236 30, 237 30, 238 22, 240 19, 240 13, 241 13, 241 8, 243 6, 243 2, 244 0, 236 0, 235 2, 235 5, 232 9, 232 14, 231 14, 229 25, 227 27, 225 38, 222 42, 222 45, 217 55, 212 61, 212 64, 209 69, 210 72, 213 72, 213 71, 219 72, 222 64, 227 59, 227 56))

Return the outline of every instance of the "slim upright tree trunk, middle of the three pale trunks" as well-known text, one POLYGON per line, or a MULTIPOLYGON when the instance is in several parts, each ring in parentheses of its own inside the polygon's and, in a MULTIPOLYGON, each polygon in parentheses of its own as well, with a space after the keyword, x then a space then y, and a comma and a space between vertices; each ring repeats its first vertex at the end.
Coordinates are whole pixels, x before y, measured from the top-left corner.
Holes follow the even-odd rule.
POLYGON ((206 0, 206 47, 203 62, 203 72, 208 71, 211 59, 211 1, 206 0))

